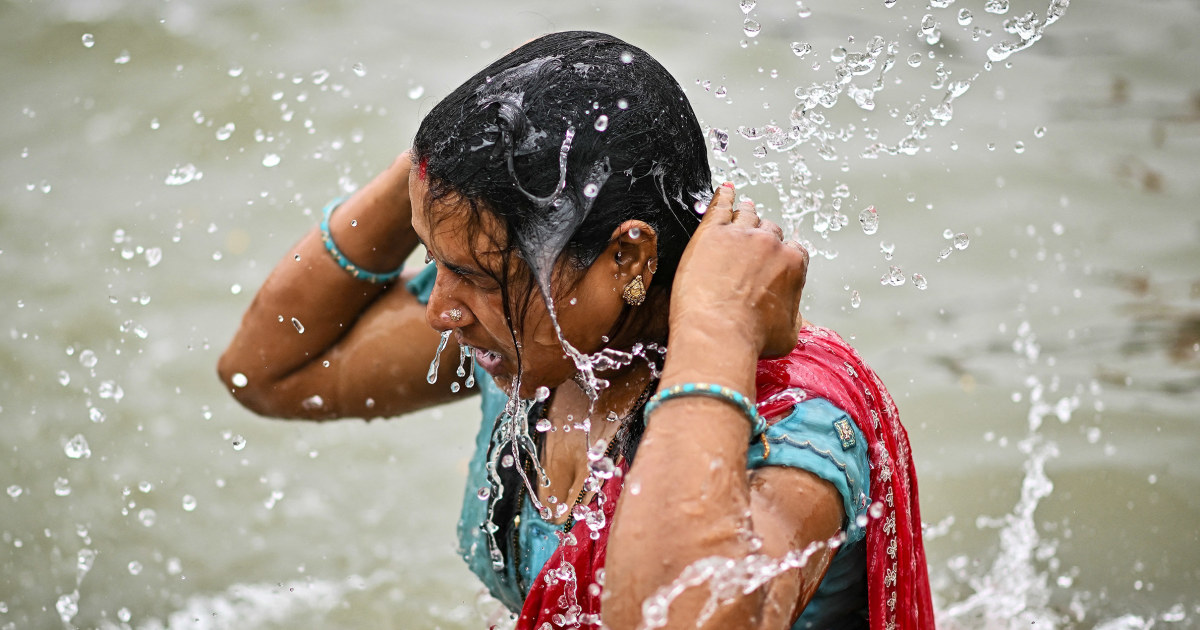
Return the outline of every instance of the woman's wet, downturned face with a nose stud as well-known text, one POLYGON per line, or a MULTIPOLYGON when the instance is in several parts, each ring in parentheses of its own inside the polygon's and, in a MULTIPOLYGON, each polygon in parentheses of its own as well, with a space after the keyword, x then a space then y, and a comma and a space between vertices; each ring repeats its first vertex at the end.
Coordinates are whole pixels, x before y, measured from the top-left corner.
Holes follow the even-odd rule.
MULTIPOLYGON (((473 210, 467 202, 439 200, 426 211, 427 191, 424 180, 409 178, 413 229, 438 265, 426 311, 430 325, 452 330, 455 341, 473 347, 476 364, 505 391, 511 390, 517 376, 514 329, 521 350, 522 397, 532 397, 539 386, 554 388, 571 378, 575 365, 563 350, 540 290, 526 290, 527 286, 535 287, 527 281, 527 268, 512 256, 509 275, 503 275, 506 234, 499 218, 484 211, 474 229, 468 229, 473 210), (509 299, 518 302, 509 308, 518 318, 511 326, 505 320, 500 282, 508 283, 509 299), (461 313, 458 320, 451 318, 454 308, 461 313), (524 318, 520 319, 522 312, 524 318)), ((644 234, 640 238, 647 239, 644 234)), ((622 290, 632 280, 632 266, 618 260, 630 258, 618 257, 620 251, 618 238, 586 270, 566 264, 554 269, 551 290, 558 323, 563 336, 584 354, 608 344, 625 308, 622 290)))

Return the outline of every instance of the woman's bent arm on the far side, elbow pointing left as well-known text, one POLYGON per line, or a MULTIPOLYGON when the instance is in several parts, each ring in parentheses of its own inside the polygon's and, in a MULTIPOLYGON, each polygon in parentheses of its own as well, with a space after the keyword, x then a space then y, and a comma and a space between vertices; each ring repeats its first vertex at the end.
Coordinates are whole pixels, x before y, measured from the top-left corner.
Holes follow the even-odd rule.
MULTIPOLYGON (((398 269, 418 246, 410 169, 401 155, 330 217, 338 250, 361 269, 398 269)), ((389 284, 353 277, 314 228, 254 295, 217 364, 221 380, 251 410, 277 418, 389 416, 452 398, 458 348, 449 344, 430 385, 438 334, 403 287, 410 277, 389 284)))

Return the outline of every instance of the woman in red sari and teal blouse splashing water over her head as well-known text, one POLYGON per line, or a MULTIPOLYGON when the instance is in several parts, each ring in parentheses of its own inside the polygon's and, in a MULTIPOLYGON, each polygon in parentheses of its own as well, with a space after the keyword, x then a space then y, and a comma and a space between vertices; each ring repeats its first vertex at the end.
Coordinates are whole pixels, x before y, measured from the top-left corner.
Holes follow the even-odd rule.
POLYGON ((220 374, 281 418, 480 396, 460 551, 517 628, 932 628, 906 433, 799 314, 808 262, 713 192, 662 66, 552 34, 326 208, 220 374), (431 264, 402 270, 418 247, 431 264))

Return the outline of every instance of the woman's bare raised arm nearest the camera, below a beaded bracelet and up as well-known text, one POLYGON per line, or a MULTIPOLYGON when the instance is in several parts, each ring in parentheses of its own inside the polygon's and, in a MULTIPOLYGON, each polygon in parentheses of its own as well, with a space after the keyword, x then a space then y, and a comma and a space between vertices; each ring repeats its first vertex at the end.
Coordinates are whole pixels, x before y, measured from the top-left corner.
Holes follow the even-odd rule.
MULTIPOLYGON (((796 344, 808 256, 782 242, 779 228, 760 223, 752 205, 734 214, 732 202, 732 188, 722 186, 680 262, 662 389, 714 383, 752 396, 760 355, 796 344)), ((643 602, 697 560, 780 559, 817 544, 804 566, 738 594, 703 624, 697 620, 716 580, 686 589, 671 604, 666 628, 782 630, 804 610, 833 558, 821 542, 841 527, 841 500, 805 470, 748 473, 749 440, 746 416, 725 401, 676 397, 650 414, 608 542, 610 628, 638 628, 643 602)))

